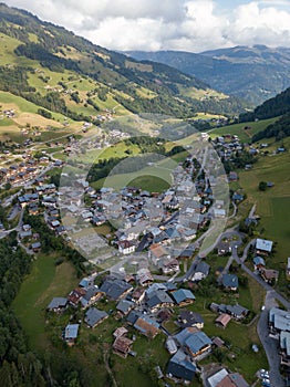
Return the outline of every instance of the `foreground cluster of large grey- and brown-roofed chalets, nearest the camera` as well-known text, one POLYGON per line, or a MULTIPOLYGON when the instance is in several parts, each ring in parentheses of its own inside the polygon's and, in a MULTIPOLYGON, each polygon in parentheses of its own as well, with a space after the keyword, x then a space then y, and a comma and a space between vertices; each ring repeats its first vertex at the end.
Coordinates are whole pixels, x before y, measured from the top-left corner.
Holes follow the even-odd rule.
MULTIPOLYGON (((215 341, 203 332, 203 317, 186 310, 187 305, 195 302, 193 292, 188 289, 177 289, 170 282, 155 282, 147 287, 133 286, 130 279, 113 275, 105 276, 97 286, 94 284, 95 275, 82 279, 79 286, 66 297, 54 297, 48 305, 48 311, 61 313, 69 305, 75 308, 80 305, 84 311, 83 321, 90 328, 95 328, 114 313, 114 318, 122 325, 113 334, 112 349, 124 358, 127 355, 136 356, 132 348, 136 339, 134 331, 148 338, 163 333, 167 336, 165 347, 170 355, 166 376, 178 383, 191 381, 197 368, 196 362, 208 355, 216 345, 215 341), (107 313, 96 307, 101 299, 113 301, 114 310, 107 313), (179 332, 170 335, 163 323, 169 320, 174 306, 185 308, 180 310, 176 320, 176 328, 179 326, 179 332)), ((244 312, 236 311, 232 306, 231 313, 237 313, 238 318, 238 313, 244 312)), ((69 345, 75 343, 80 324, 70 323, 64 328, 62 337, 69 345)))

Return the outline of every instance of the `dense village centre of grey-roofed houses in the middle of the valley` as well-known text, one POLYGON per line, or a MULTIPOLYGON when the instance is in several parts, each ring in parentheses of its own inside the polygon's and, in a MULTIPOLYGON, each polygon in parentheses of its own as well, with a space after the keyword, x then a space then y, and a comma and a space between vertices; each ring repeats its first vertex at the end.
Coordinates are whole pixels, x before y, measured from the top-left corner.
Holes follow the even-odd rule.
POLYGON ((162 194, 136 187, 124 187, 117 192, 102 188, 96 192, 87 181, 79 179, 73 190, 62 187, 65 194, 61 197, 62 208, 96 227, 106 222, 114 224, 116 231, 113 238, 108 234, 107 242, 115 245, 121 255, 146 250, 152 264, 164 274, 174 273, 179 270, 177 258, 193 257, 195 248, 187 247, 197 232, 205 229, 210 219, 226 217, 224 200, 216 200, 213 206, 210 184, 201 177, 193 182, 195 170, 194 158, 188 157, 185 169, 178 166, 172 171, 174 184, 162 194), (86 210, 79 209, 83 192, 91 199, 91 208, 86 210))

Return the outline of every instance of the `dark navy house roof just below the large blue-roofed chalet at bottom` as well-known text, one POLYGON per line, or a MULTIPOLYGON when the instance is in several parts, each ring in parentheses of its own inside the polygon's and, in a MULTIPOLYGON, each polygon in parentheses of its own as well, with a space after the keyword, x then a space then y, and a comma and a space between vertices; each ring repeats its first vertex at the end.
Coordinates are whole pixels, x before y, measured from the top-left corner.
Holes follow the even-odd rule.
POLYGON ((178 349, 177 353, 170 358, 166 374, 176 378, 193 380, 196 372, 196 366, 189 362, 188 356, 178 349))

